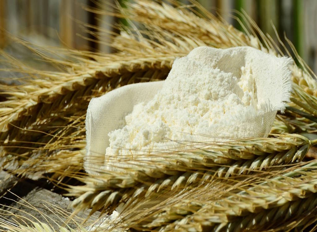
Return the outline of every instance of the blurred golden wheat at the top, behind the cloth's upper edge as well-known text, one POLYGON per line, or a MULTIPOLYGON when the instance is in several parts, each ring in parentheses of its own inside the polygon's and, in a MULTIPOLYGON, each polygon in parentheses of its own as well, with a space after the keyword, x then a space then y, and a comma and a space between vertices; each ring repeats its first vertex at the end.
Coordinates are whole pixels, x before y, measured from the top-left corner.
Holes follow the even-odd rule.
MULTIPOLYGON (((285 55, 272 38, 269 35, 264 35, 256 23, 246 14, 240 14, 244 22, 238 21, 246 32, 246 34, 243 34, 226 22, 217 19, 195 1, 192 1, 193 4, 201 11, 201 14, 198 14, 199 16, 195 15, 198 12, 193 10, 193 8, 178 8, 180 4, 177 1, 170 1, 173 6, 145 0, 134 2, 135 3, 126 3, 129 7, 125 9, 120 9, 119 7, 116 9, 117 13, 108 13, 141 23, 145 28, 149 28, 152 34, 173 34, 173 38, 179 39, 184 39, 185 37, 197 38, 197 40, 202 41, 208 46, 219 48, 251 46, 261 49, 264 52, 269 52, 270 54, 285 55), (259 33, 259 38, 256 33, 259 33), (263 43, 260 39, 262 39, 263 43)), ((91 11, 94 10, 91 9, 91 11)), ((95 11, 95 13, 98 14, 100 12, 95 11)), ((237 19, 237 17, 233 17, 237 19)), ((141 33, 138 35, 138 38, 140 38, 141 33)), ((279 37, 278 39, 285 48, 285 45, 282 44, 279 37)), ((124 42, 124 40, 120 41, 124 42)), ((120 41, 116 43, 116 48, 120 50, 124 50, 125 48, 132 49, 132 46, 129 46, 127 43, 123 43, 122 46, 120 46, 120 41)), ((147 40, 144 39, 144 41, 147 40)), ((291 43, 290 46, 292 49, 294 48, 291 43)), ((286 48, 285 52, 292 57, 286 48)), ((317 89, 317 84, 311 76, 313 73, 310 72, 307 64, 304 63, 294 49, 293 52, 303 68, 298 68, 295 63, 292 65, 292 79, 294 83, 300 83, 302 87, 308 87, 314 92, 314 89, 317 89)), ((317 92, 315 91, 315 93, 317 92)))

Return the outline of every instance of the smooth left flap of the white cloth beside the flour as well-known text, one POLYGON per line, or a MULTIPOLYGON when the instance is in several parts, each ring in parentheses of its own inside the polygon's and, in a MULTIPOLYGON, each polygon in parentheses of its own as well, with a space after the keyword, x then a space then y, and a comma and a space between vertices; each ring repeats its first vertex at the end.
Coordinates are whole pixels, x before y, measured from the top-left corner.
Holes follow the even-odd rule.
POLYGON ((142 82, 114 89, 105 95, 90 100, 86 114, 87 154, 84 168, 90 174, 97 174, 103 165, 108 133, 118 129, 122 117, 142 101, 151 100, 162 88, 164 81, 142 82))

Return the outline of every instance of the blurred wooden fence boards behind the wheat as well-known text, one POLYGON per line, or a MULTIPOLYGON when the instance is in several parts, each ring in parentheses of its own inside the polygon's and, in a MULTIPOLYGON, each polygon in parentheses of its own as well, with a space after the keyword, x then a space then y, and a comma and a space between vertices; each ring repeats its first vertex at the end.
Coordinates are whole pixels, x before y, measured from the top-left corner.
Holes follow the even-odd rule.
MULTIPOLYGON (((212 13, 219 13, 236 28, 230 17, 232 10, 245 10, 263 32, 275 38, 271 22, 282 41, 284 33, 307 64, 317 73, 317 1, 316 0, 197 0, 212 13)), ((116 2, 122 2, 120 0, 116 2)), ((184 4, 189 1, 182 0, 184 4)), ((105 43, 89 39, 85 23, 112 30, 118 19, 87 12, 85 7, 109 10, 114 0, 0 0, 0 28, 37 45, 61 46, 91 51, 109 52, 105 43), (110 4, 109 4, 110 3, 110 4), (87 39, 88 38, 88 39, 87 39)), ((0 48, 21 53, 1 35, 0 48)), ((105 33, 105 32, 104 32, 105 33)), ((102 36, 102 33, 101 33, 102 36)), ((104 35, 106 37, 106 33, 104 35)), ((289 48, 289 47, 288 47, 289 48)), ((27 55, 25 55, 27 59, 27 55)), ((21 58, 21 57, 20 57, 21 58)))

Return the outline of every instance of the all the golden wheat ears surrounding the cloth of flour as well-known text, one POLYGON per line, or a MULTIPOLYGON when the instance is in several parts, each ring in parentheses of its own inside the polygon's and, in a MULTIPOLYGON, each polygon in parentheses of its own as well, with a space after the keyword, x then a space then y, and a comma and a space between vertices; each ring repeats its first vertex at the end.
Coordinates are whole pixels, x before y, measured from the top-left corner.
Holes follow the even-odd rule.
MULTIPOLYGON (((43 71, 1 52, 9 66, 2 71, 23 70, 29 77, 19 86, 0 86, 5 98, 0 102, 2 167, 10 170, 15 163, 11 171, 19 175, 52 173, 48 177, 52 182, 77 197, 71 203, 75 208, 71 217, 86 208, 92 208, 90 215, 100 211, 101 218, 116 208, 121 211, 117 220, 96 226, 97 231, 277 231, 316 222, 316 165, 302 161, 316 140, 286 133, 317 129, 317 83, 291 44, 301 68, 295 62, 291 66, 294 92, 285 114, 276 116, 271 132, 278 134, 222 144, 179 141, 182 150, 158 151, 156 163, 140 156, 139 165, 133 163, 123 173, 97 170, 100 175, 94 176, 81 171, 83 126, 92 97, 130 83, 163 80, 176 57, 198 46, 252 46, 291 56, 246 15, 242 15, 244 34, 195 2, 199 12, 171 3, 135 1, 127 8, 103 12, 139 23, 139 29, 122 26, 120 35, 113 36, 111 46, 118 51, 114 54, 52 51, 18 40, 55 67, 43 71), (64 177, 83 185, 66 184, 64 177)), ((43 222, 6 227, 54 231, 43 222)))

